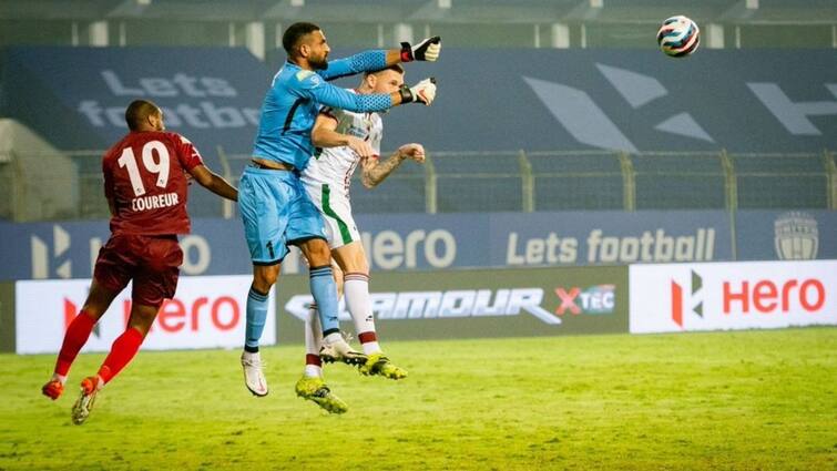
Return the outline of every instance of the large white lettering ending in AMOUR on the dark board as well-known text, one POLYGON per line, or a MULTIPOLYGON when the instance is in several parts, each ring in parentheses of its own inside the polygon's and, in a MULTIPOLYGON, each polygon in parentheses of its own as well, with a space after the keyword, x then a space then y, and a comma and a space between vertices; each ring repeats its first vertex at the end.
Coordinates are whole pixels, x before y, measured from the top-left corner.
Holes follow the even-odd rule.
MULTIPOLYGON (((541 307, 541 288, 498 289, 496 293, 491 289, 372 293, 370 297, 372 313, 381 320, 517 316, 524 310, 544 324, 561 324, 561 319, 541 307)), ((294 296, 285 305, 285 310, 305 320, 312 300, 310 295, 294 296)), ((349 318, 341 309, 340 319, 349 318)))

